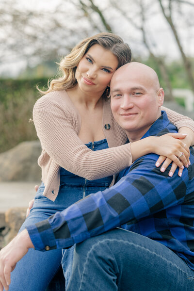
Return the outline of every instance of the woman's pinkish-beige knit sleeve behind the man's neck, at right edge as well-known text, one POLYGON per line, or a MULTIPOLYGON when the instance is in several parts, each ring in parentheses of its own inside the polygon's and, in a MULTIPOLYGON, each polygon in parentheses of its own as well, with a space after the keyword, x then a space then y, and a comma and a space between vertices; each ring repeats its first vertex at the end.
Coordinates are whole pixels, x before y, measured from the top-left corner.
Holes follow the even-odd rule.
POLYGON ((194 120, 192 120, 191 118, 179 114, 164 106, 162 106, 162 110, 164 110, 167 113, 170 122, 172 122, 178 129, 181 127, 188 127, 194 131, 194 120))

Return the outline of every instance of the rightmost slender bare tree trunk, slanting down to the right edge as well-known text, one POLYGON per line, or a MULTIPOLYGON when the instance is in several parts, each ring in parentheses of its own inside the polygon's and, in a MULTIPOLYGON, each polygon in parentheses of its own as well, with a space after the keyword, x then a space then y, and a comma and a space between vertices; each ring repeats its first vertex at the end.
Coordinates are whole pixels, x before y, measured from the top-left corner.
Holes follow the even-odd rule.
POLYGON ((191 62, 189 61, 189 59, 187 58, 187 56, 184 53, 184 50, 182 48, 182 45, 181 45, 179 37, 178 37, 178 32, 177 32, 177 30, 175 28, 175 25, 173 23, 173 20, 172 20, 171 0, 169 0, 169 5, 168 5, 169 15, 167 15, 167 13, 164 10, 164 6, 162 4, 162 0, 158 0, 158 1, 160 3, 161 9, 162 9, 162 13, 163 13, 164 17, 166 18, 166 20, 168 21, 168 23, 169 23, 169 25, 170 25, 170 27, 172 29, 172 32, 173 32, 173 34, 175 36, 175 39, 176 39, 176 42, 178 44, 178 48, 179 48, 180 54, 181 54, 182 59, 183 59, 183 65, 184 65, 186 73, 187 73, 188 81, 189 81, 189 83, 191 85, 192 91, 194 92, 194 77, 193 77, 193 73, 192 73, 192 64, 191 64, 191 62))

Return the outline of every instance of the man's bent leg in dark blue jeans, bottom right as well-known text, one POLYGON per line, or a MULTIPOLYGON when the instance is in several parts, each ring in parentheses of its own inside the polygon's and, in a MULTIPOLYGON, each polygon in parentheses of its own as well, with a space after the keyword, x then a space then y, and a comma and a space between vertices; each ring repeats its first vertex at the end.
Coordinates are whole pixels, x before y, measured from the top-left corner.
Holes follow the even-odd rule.
POLYGON ((66 291, 194 291, 194 271, 160 242, 116 228, 75 246, 66 291))

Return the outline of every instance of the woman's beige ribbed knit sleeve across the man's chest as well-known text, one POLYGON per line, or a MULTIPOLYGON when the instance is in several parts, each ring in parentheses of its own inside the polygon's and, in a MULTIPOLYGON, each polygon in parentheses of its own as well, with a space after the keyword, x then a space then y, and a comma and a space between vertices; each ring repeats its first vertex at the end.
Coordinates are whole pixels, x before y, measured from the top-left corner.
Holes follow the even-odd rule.
POLYGON ((118 173, 132 163, 130 144, 100 151, 88 149, 78 137, 78 116, 55 92, 52 98, 44 96, 36 102, 33 122, 43 148, 40 166, 49 164, 54 168, 55 162, 67 171, 94 180, 118 173))

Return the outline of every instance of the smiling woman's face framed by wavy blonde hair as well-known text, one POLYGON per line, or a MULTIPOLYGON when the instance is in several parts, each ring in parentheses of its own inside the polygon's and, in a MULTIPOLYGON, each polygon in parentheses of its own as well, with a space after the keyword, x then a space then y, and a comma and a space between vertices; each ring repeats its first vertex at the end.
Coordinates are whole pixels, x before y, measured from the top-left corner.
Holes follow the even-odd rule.
POLYGON ((81 91, 102 95, 118 66, 118 60, 110 50, 93 45, 81 59, 76 79, 81 91))

